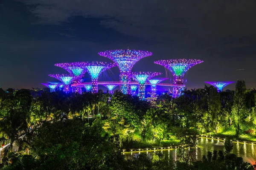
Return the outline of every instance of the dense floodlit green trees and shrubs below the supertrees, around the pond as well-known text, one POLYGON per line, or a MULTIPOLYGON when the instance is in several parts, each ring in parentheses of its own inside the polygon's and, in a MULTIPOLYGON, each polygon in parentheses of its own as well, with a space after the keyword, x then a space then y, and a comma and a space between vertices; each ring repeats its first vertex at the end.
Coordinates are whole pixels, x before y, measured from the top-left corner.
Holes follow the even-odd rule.
MULTIPOLYGON (((256 141, 255 111, 256 91, 247 90, 244 81, 237 82, 235 91, 218 93, 213 86, 205 86, 185 90, 176 99, 164 94, 151 95, 146 101, 119 91, 111 95, 0 89, 0 143, 6 145, 1 166, 201 170, 206 164, 218 164, 222 169, 251 169, 228 151, 225 159, 213 152, 203 161, 193 160, 193 154, 200 133, 256 141), (120 154, 122 149, 179 144, 190 150, 178 148, 182 156, 178 162, 160 153, 153 159, 142 154, 127 161, 120 154)), ((231 146, 225 147, 230 150, 231 146)))

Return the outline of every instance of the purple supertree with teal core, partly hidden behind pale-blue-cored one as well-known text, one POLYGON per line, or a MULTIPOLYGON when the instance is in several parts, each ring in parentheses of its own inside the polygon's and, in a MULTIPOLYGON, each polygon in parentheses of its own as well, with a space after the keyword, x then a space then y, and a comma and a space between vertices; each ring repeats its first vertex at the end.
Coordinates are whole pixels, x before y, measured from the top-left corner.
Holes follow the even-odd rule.
MULTIPOLYGON (((81 78, 84 76, 84 73, 86 72, 86 69, 81 67, 79 65, 79 62, 58 63, 58 64, 55 64, 55 66, 64 68, 69 72, 69 74, 74 76, 73 83, 81 82, 81 78)), ((82 93, 82 90, 80 87, 74 87, 72 88, 72 91, 80 94, 82 93)))

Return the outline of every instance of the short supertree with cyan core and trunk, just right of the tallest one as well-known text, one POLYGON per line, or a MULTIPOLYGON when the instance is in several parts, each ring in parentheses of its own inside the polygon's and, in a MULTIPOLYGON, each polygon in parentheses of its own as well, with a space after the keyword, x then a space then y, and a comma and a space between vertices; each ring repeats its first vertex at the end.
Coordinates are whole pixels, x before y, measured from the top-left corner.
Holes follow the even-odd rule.
POLYGON ((145 83, 148 79, 155 77, 162 73, 157 72, 135 72, 132 73, 133 79, 139 82, 139 98, 145 100, 145 83))

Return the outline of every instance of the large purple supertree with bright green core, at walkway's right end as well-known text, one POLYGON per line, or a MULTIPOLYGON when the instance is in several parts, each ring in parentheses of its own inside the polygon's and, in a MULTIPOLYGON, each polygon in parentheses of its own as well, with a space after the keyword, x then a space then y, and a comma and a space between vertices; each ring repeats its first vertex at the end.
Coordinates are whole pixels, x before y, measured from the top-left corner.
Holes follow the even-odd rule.
MULTIPOLYGON (((202 62, 204 61, 201 61, 200 59, 168 59, 155 61, 154 63, 163 65, 165 68, 172 72, 174 85, 183 85, 183 79, 186 71, 188 71, 192 66, 202 62)), ((183 87, 174 86, 172 97, 175 98, 180 96, 183 90, 183 87)))

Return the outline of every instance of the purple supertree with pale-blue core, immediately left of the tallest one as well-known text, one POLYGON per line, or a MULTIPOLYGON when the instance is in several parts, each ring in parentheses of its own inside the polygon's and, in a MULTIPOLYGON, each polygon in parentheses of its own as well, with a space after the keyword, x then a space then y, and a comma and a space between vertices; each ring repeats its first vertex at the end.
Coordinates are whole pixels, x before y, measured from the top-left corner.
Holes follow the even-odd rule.
POLYGON ((85 68, 92 79, 92 91, 98 92, 98 78, 103 71, 115 67, 116 64, 108 62, 79 62, 79 66, 85 68))

